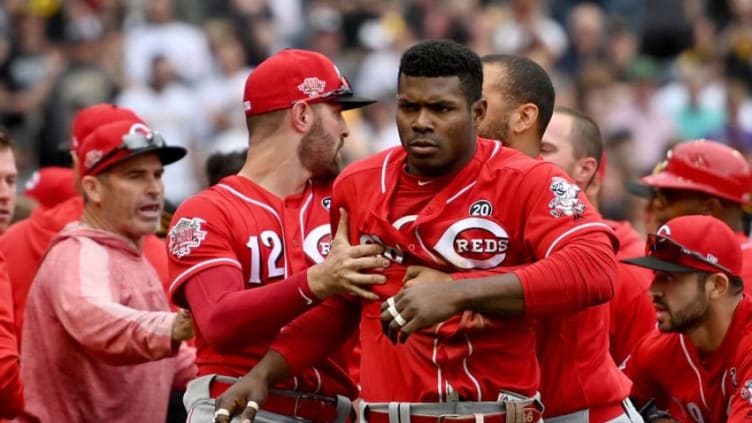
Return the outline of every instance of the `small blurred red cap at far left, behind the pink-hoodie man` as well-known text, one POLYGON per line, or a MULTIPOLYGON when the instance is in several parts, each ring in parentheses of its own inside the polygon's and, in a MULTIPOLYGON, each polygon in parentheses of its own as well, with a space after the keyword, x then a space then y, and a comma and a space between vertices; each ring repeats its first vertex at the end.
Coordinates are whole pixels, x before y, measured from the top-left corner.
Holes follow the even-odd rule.
POLYGON ((78 193, 73 169, 57 166, 40 168, 26 182, 23 194, 46 208, 75 197, 78 193))

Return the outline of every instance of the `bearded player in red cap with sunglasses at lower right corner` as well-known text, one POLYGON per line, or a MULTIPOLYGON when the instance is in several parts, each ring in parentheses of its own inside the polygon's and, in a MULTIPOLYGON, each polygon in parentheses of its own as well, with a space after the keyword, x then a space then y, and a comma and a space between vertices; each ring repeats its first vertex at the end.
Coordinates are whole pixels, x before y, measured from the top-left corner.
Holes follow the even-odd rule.
POLYGON ((739 277, 737 234, 715 217, 686 215, 651 234, 646 250, 624 261, 655 271, 650 295, 660 331, 626 362, 632 398, 641 407, 655 401, 647 421, 673 421, 658 420, 665 412, 681 422, 749 421, 752 300, 739 277))

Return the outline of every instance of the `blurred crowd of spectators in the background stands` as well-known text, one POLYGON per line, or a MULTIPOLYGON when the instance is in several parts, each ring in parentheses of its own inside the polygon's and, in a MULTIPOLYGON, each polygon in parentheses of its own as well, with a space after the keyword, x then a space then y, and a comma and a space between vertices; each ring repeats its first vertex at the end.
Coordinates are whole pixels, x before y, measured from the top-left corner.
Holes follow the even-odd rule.
POLYGON ((178 204, 207 184, 206 158, 247 146, 243 84, 284 47, 321 51, 377 105, 348 112, 348 160, 399 142, 397 66, 416 40, 523 54, 554 81, 557 105, 606 138, 601 199, 638 226, 624 181, 681 141, 752 155, 752 0, 6 0, 0 3, 0 124, 18 145, 20 184, 68 166, 85 106, 136 111, 190 151, 167 168, 178 204))

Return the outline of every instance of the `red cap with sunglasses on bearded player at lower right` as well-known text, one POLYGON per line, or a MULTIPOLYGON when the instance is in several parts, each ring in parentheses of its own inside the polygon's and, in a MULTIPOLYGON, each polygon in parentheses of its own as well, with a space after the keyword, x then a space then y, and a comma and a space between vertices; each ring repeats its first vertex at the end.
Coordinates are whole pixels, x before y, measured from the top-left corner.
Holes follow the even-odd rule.
POLYGON ((710 215, 669 220, 648 236, 646 253, 622 262, 664 272, 722 272, 741 280, 742 248, 737 235, 710 215))

